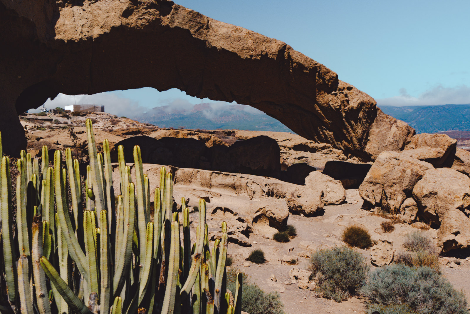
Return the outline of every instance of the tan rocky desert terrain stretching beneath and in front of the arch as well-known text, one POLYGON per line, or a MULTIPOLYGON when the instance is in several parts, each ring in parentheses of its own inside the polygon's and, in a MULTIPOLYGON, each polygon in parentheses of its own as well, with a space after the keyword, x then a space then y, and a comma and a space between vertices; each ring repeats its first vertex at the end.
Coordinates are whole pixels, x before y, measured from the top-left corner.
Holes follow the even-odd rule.
MULTIPOLYGON (((372 269, 393 263, 396 254, 405 251, 403 242, 406 235, 414 231, 422 232, 432 239, 436 248, 440 245, 439 250, 443 249, 443 244, 438 238, 439 229, 432 228, 429 221, 419 221, 416 213, 416 217, 410 217, 409 213, 403 212, 390 215, 379 207, 371 208, 370 205, 365 205, 359 186, 371 168, 371 162, 361 163, 358 158, 348 158, 341 150, 334 149, 329 144, 308 141, 292 133, 159 129, 157 126, 102 112, 75 116, 71 112, 56 112, 47 113, 42 117, 35 114, 20 116, 28 139, 28 151, 33 157, 39 157, 40 147, 47 145, 50 149, 61 150, 70 147, 75 156, 85 155, 86 118, 91 118, 94 123, 97 143, 102 143, 104 139, 110 141, 111 154, 114 145, 118 143, 124 144, 126 149, 134 143, 141 145, 142 158, 145 159, 144 171, 149 176, 151 191, 159 182, 160 167, 165 166, 174 174, 173 195, 178 205, 180 197, 186 197, 189 208, 193 208, 192 216, 196 217, 194 207, 198 198, 204 198, 210 213, 208 224, 211 239, 217 238, 221 221, 227 221, 230 241, 228 255, 233 259, 231 267, 249 275, 251 281, 266 292, 277 291, 286 313, 294 314, 299 310, 311 313, 365 313, 367 300, 360 295, 338 303, 321 298, 315 291, 314 281, 307 279, 305 282, 305 278, 298 280, 292 275, 296 269, 309 269, 312 252, 345 245, 342 233, 348 226, 360 225, 370 233, 375 244, 368 249, 354 250, 360 252, 372 269), (242 160, 240 169, 244 169, 244 173, 211 169, 222 169, 226 166, 217 161, 216 157, 207 159, 207 154, 198 150, 199 146, 193 143, 197 141, 207 149, 229 149, 235 143, 240 145, 258 136, 266 139, 256 143, 254 147, 247 146, 232 151, 240 154, 237 158, 242 160), (204 163, 196 163, 200 167, 185 167, 185 162, 188 165, 196 164, 190 160, 183 162, 175 157, 178 152, 169 151, 168 147, 158 146, 160 144, 153 142, 169 138, 180 141, 172 144, 183 145, 180 149, 186 150, 188 154, 200 154, 204 163), (274 140, 279 149, 271 149, 266 156, 260 154, 261 159, 252 158, 260 146, 265 150, 266 147, 271 147, 269 140, 274 140), (187 147, 184 147, 185 141, 189 143, 187 147), (149 147, 154 147, 153 153, 146 152, 149 147), (247 148, 255 150, 247 151, 247 148), (166 154, 167 163, 156 159, 154 154, 166 154), (278 167, 266 168, 273 154, 274 159, 279 160, 278 167), (246 160, 243 156, 246 155, 250 157, 250 164, 243 163, 243 160, 246 160), (155 162, 151 162, 152 160, 155 162), (327 164, 329 162, 330 164, 327 164), (331 165, 333 168, 338 166, 335 162, 344 163, 339 164, 343 171, 351 165, 356 167, 355 170, 349 170, 349 177, 344 173, 338 178, 342 181, 334 180, 322 172, 337 176, 338 172, 335 173, 331 169, 331 165), (306 188, 310 189, 307 191, 306 188), (290 197, 293 194, 305 200, 301 200, 300 205, 292 204, 290 197), (316 203, 312 200, 315 197, 316 203), (286 206, 286 203, 291 205, 286 206), (394 230, 385 233, 381 223, 392 220, 395 222, 394 230), (297 235, 288 243, 274 241, 273 234, 287 224, 297 229, 297 235), (264 251, 264 264, 257 265, 247 260, 255 249, 264 251)), ((211 151, 212 155, 219 154, 221 158, 226 158, 222 150, 215 152, 217 153, 211 151)), ((126 158, 126 161, 131 160, 126 158)), ((275 162, 271 164, 275 165, 275 162)), ((462 290, 469 299, 469 251, 441 251, 439 264, 444 277, 455 289, 462 290)))

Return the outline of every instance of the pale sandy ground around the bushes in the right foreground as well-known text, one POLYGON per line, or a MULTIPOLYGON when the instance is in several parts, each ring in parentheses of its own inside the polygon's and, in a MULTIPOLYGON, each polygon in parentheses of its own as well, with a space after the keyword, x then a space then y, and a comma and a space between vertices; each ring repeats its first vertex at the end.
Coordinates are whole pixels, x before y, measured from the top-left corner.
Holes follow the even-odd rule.
MULTIPOLYGON (((354 203, 359 199, 357 190, 347 190, 348 201, 354 203)), ((380 222, 386 219, 371 215, 370 212, 360 209, 361 202, 357 204, 340 204, 325 206, 325 212, 317 217, 301 217, 298 215, 290 215, 289 223, 297 228, 298 235, 289 243, 278 243, 271 239, 266 239, 259 235, 251 235, 250 240, 252 247, 243 248, 235 244, 230 244, 228 253, 234 257, 234 264, 232 267, 237 267, 247 275, 251 276, 251 280, 257 283, 266 292, 278 291, 281 300, 284 303, 285 312, 289 314, 302 313, 339 313, 339 314, 352 314, 352 313, 365 313, 366 300, 363 298, 349 298, 347 301, 337 303, 335 301, 317 297, 314 290, 299 289, 297 283, 292 283, 289 277, 289 271, 293 267, 307 269, 309 259, 307 257, 300 257, 298 254, 303 255, 305 250, 305 241, 312 244, 308 249, 323 249, 330 248, 335 245, 344 245, 341 241, 341 234, 345 226, 350 224, 364 224, 367 223, 366 228, 372 235, 373 239, 383 239, 393 242, 393 249, 400 250, 401 243, 405 239, 408 232, 418 230, 406 224, 395 225, 395 230, 391 234, 381 234, 380 222), (256 265, 245 258, 248 257, 250 252, 254 249, 262 249, 265 252, 267 259, 265 264, 256 265), (298 257, 297 265, 288 265, 281 262, 284 254, 298 257), (274 275, 277 281, 270 279, 274 275)), ((432 236, 434 230, 425 231, 432 236)), ((370 249, 359 251, 370 264, 370 249)), ((446 258, 441 259, 441 263, 446 262, 446 258)), ((450 260, 454 260, 451 258, 450 260)), ((460 259, 461 265, 451 268, 446 265, 441 265, 442 274, 449 279, 449 281, 458 290, 463 290, 467 300, 470 300, 470 259, 460 259)), ((371 265, 371 269, 375 267, 371 265)))

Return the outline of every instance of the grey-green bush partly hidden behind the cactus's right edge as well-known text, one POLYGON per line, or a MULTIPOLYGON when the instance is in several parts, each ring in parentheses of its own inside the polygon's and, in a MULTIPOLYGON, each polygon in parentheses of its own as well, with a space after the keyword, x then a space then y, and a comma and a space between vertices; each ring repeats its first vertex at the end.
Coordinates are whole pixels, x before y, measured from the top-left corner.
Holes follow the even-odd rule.
MULTIPOLYGON (((235 283, 238 270, 227 270, 227 289, 235 298, 235 283)), ((257 284, 250 283, 243 274, 242 311, 250 314, 285 314, 279 293, 266 293, 257 284)))

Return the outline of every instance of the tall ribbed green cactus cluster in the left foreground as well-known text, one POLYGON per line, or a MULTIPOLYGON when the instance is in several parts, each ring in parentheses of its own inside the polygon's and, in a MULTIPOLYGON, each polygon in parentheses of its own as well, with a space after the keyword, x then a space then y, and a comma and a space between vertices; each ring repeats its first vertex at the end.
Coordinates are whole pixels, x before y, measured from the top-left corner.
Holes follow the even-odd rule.
POLYGON ((172 174, 162 167, 152 204, 138 146, 134 182, 118 147, 121 193, 115 197, 109 142, 98 153, 90 119, 86 131, 84 194, 70 148, 65 165, 55 151, 53 167, 47 147, 40 167, 37 158, 21 152, 16 224, 10 160, 0 136, 0 313, 241 313, 240 274, 233 304, 226 290, 227 224, 210 249, 200 200, 191 243, 184 198, 181 211, 173 211, 172 174))

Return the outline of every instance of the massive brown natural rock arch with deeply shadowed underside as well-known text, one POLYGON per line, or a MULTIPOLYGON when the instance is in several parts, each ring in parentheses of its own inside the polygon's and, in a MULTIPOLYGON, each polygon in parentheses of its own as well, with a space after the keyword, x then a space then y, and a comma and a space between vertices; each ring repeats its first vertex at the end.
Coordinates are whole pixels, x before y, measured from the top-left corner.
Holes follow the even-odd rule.
POLYGON ((286 43, 172 1, 0 0, 0 25, 7 154, 26 147, 17 114, 49 97, 140 87, 250 105, 363 160, 415 133, 286 43))

